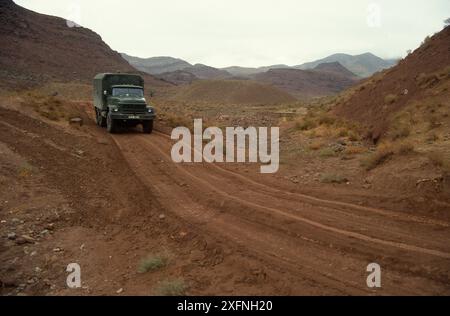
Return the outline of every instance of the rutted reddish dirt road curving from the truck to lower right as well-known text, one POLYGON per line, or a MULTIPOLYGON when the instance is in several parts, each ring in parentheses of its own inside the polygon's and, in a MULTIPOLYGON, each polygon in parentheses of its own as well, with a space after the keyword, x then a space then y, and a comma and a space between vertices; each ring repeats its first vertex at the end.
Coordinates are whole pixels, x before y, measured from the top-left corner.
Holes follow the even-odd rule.
POLYGON ((158 132, 114 140, 168 210, 286 273, 295 292, 371 293, 365 270, 376 262, 382 294, 450 293, 447 222, 286 191, 226 166, 174 164, 158 132))

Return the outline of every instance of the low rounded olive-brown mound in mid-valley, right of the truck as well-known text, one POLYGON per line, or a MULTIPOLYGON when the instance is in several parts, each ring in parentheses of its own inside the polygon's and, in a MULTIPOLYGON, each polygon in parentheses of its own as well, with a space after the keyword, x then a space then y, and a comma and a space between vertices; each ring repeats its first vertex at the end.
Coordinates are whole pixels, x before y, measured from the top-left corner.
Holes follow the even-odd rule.
POLYGON ((200 80, 181 87, 173 99, 211 104, 278 104, 294 102, 290 94, 249 80, 200 80))

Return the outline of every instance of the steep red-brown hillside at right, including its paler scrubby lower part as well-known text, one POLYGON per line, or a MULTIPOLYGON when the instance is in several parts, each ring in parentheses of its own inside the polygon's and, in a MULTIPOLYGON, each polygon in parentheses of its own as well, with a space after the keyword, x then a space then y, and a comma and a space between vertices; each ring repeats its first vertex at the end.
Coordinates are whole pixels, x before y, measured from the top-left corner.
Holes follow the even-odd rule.
POLYGON ((392 129, 412 133, 423 119, 430 126, 440 124, 443 117, 439 117, 435 107, 448 109, 449 78, 450 27, 447 27, 427 38, 397 66, 368 79, 349 93, 334 112, 363 124, 374 141, 392 129), (407 108, 410 114, 403 114, 410 119, 396 120, 395 116, 407 108))

